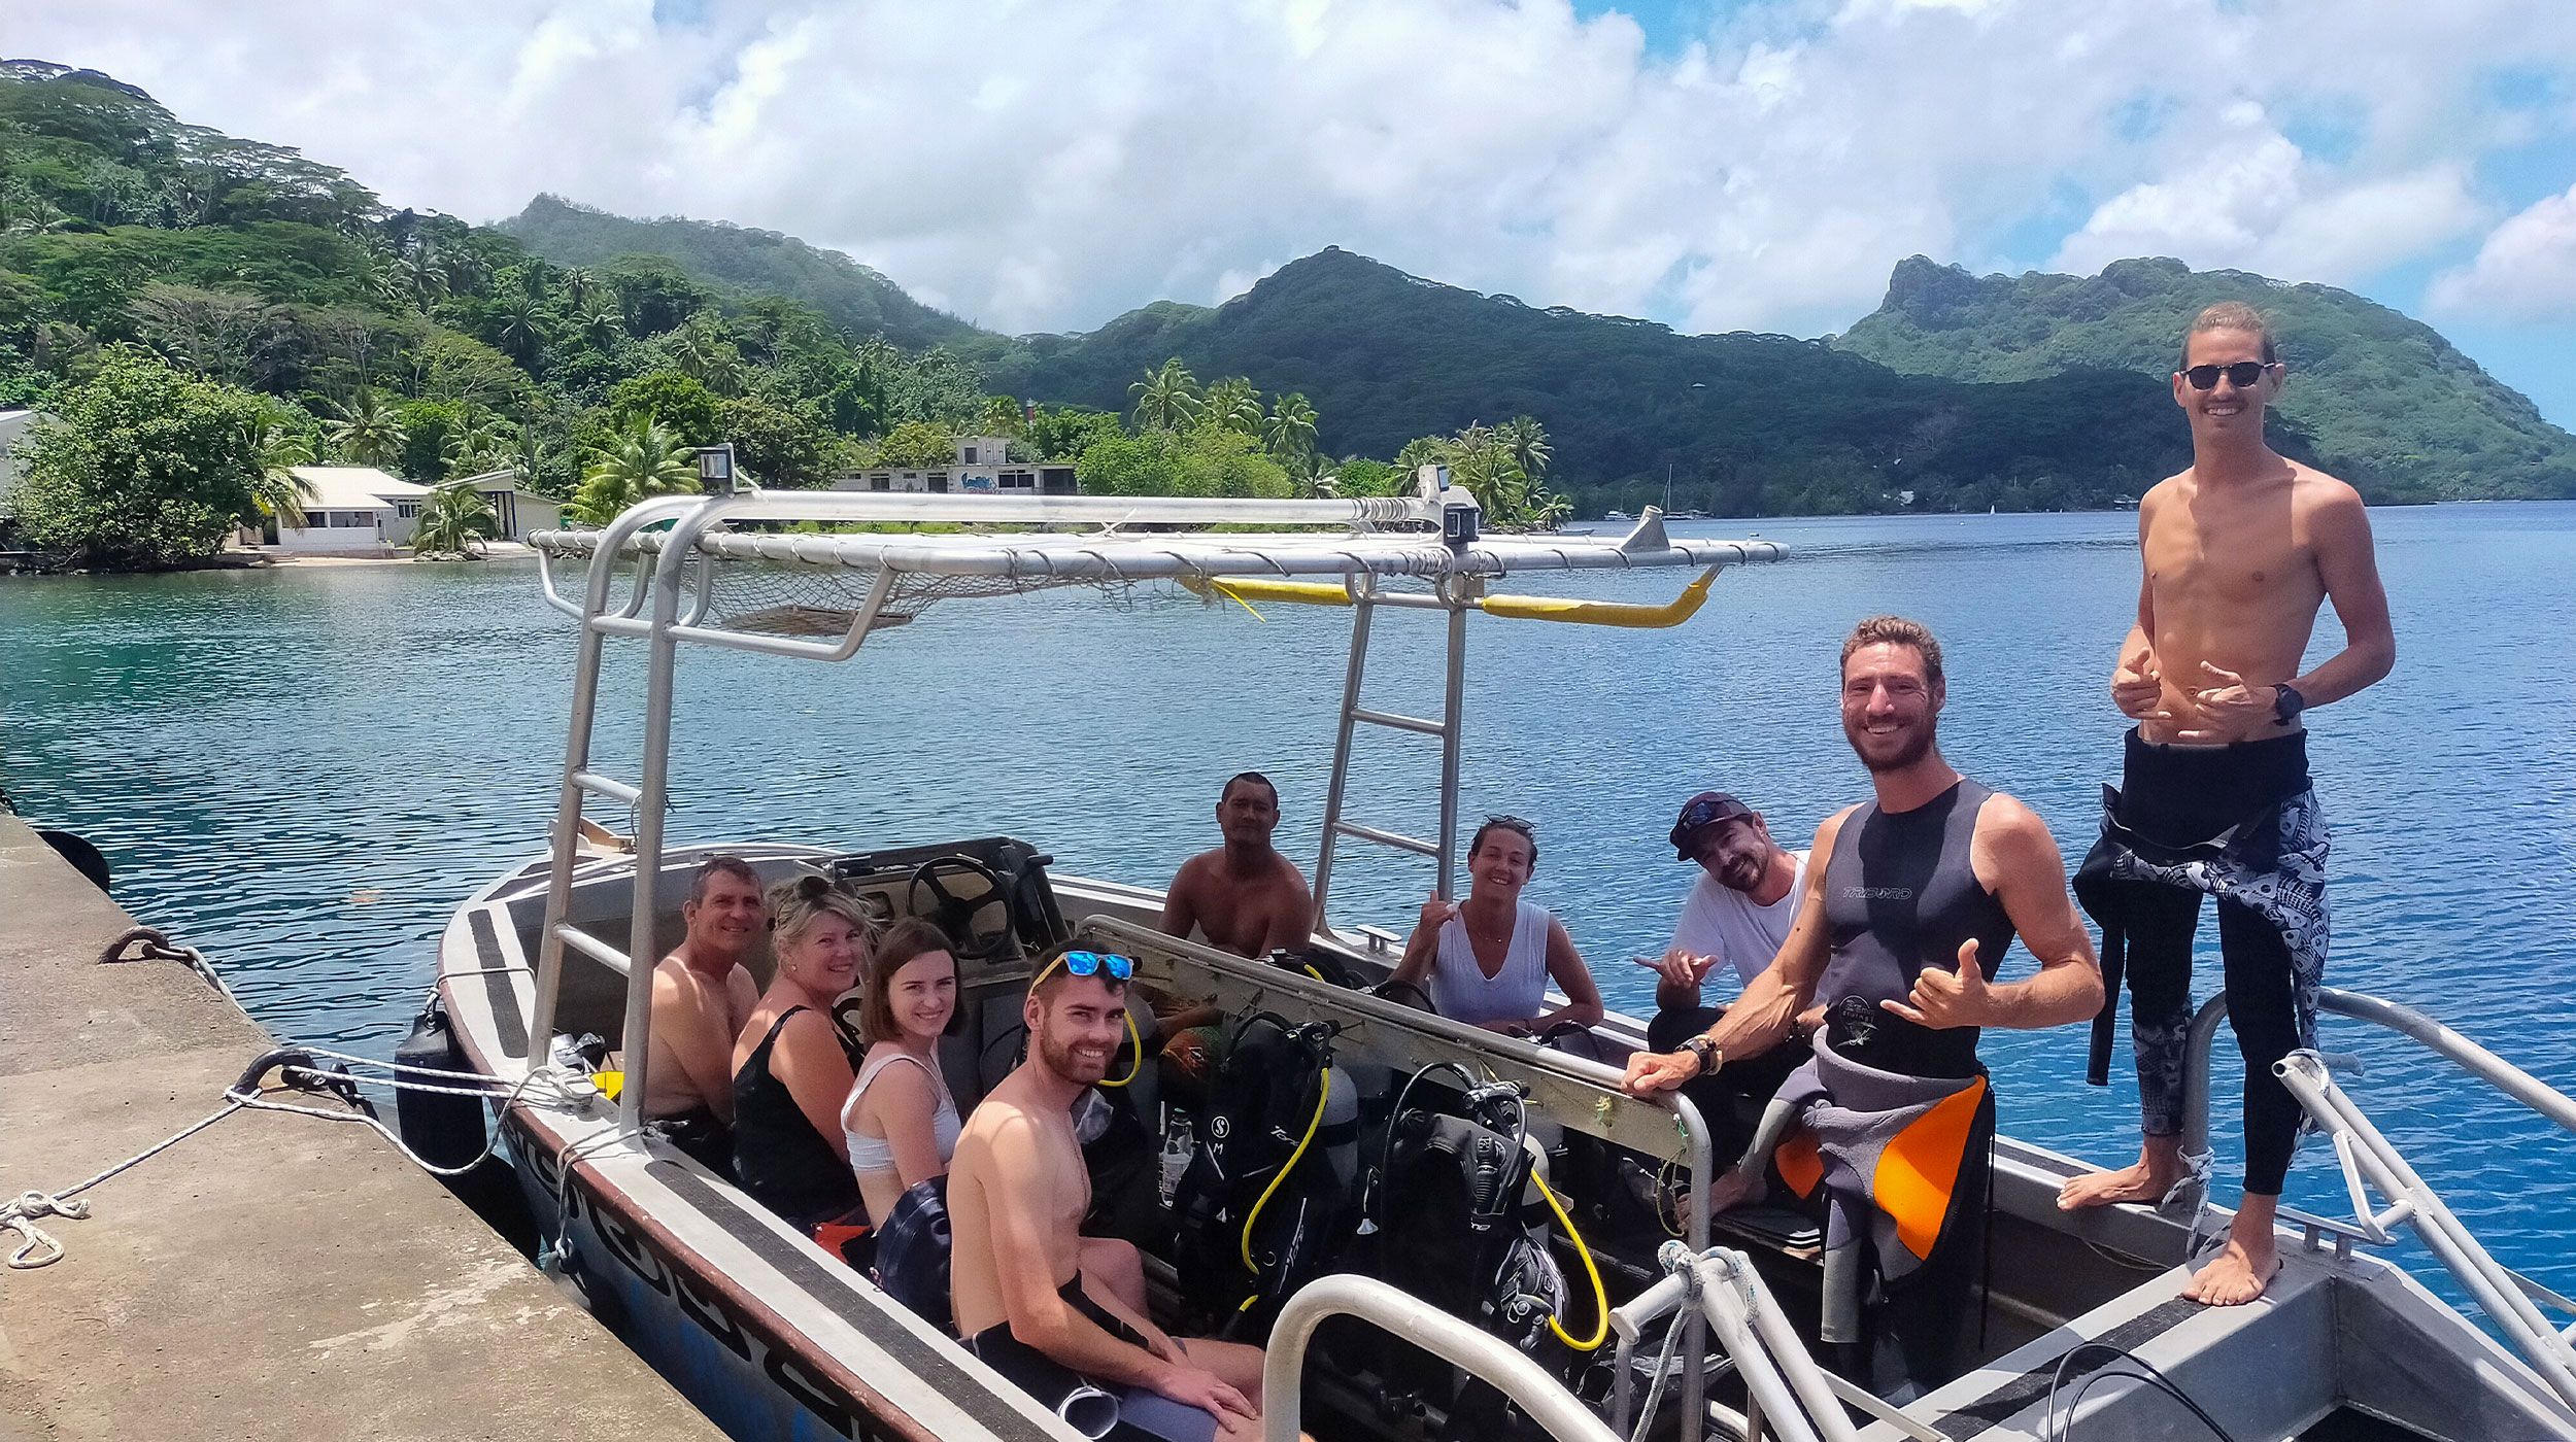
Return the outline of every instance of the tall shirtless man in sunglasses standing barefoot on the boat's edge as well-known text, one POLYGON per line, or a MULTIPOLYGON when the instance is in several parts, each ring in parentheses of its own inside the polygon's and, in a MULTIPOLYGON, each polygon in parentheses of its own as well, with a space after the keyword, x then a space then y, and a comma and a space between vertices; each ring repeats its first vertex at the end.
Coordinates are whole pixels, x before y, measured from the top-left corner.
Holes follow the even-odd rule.
POLYGON ((2210 306, 2182 337, 2174 404, 2192 422, 2192 469, 2138 505, 2146 577, 2110 680, 2138 726, 2102 839, 2076 876, 2112 979, 2092 1082, 2107 1079, 2125 963, 2146 1148, 2136 1166, 2066 1182, 2061 1208, 2154 1203, 2184 1177, 2192 932, 2202 894, 2218 899, 2228 1022, 2246 1063, 2246 1174, 2226 1249, 2187 1290, 2213 1306, 2259 1298, 2280 1267, 2272 1218, 2300 1110, 2272 1063, 2316 1045, 2326 819, 2308 785, 2306 713, 2396 664, 2362 497, 2264 443, 2264 407, 2280 386, 2282 363, 2254 306, 2210 306), (2329 600, 2344 649, 2300 670, 2329 600))

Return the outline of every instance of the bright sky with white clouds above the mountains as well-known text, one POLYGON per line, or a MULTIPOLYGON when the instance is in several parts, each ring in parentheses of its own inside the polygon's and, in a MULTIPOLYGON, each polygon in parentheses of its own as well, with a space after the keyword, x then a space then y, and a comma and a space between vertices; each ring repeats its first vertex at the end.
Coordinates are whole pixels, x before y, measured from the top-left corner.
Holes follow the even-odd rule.
POLYGON ((1569 0, 708 0, 688 26, 649 0, 18 0, 5 49, 394 203, 783 229, 1005 330, 1342 245, 1530 304, 1816 332, 1911 252, 2347 283, 2421 258, 2483 224, 2478 147, 2532 144, 2491 72, 2576 77, 2576 5, 1767 0, 1656 54, 1569 0), (2321 111, 2352 116, 2331 157, 2298 144, 2321 111), (2066 219, 2030 239, 2035 214, 2066 219))

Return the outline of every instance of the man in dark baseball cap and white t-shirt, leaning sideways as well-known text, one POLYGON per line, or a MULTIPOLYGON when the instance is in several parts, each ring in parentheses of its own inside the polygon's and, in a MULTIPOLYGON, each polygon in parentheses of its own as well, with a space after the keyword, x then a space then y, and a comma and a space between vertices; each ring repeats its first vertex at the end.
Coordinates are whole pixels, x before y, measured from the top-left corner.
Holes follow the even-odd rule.
MULTIPOLYGON (((1798 917, 1798 883, 1806 878, 1806 852, 1783 850, 1762 814, 1723 791, 1703 791, 1682 803, 1672 821, 1672 850, 1677 860, 1698 863, 1700 876, 1682 899, 1664 955, 1636 958, 1656 976, 1656 1012, 1646 1022, 1651 1051, 1680 1051, 1726 1015, 1726 1007, 1700 1004, 1700 981, 1710 971, 1734 968, 1739 986, 1762 976, 1788 940, 1798 917)), ((1780 1051, 1788 1056, 1752 1058, 1685 1084, 1716 1130, 1721 1156, 1741 1151, 1749 1136, 1734 1097, 1770 1100, 1803 1061, 1795 1048, 1780 1051)))

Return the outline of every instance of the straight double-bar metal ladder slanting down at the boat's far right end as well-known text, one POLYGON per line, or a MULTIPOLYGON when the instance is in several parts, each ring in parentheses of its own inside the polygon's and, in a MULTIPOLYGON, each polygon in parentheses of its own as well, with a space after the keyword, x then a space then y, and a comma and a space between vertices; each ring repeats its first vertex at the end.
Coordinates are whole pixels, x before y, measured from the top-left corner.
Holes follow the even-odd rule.
MULTIPOLYGON (((2367 999, 2365 999, 2367 1002, 2367 999)), ((2385 1002, 2383 1002, 2385 1004, 2385 1002)), ((2403 1007, 2401 1007, 2403 1009, 2403 1007)), ((2473 1043, 2470 1043, 2473 1045, 2473 1043)), ((2447 1051, 2447 1048, 2445 1048, 2447 1051)), ((2504 1066, 2501 1061, 2496 1066, 2504 1066)), ((2313 1051, 2293 1051, 2272 1074, 2290 1087, 2298 1105, 2316 1118, 2316 1125, 2334 1141, 2334 1159, 2344 1169, 2344 1187, 2352 1195, 2354 1228, 2372 1241, 2388 1241, 2396 1226, 2411 1226, 2424 1246, 2442 1259, 2463 1288, 2478 1300, 2504 1336, 2522 1349, 2543 1383, 2561 1401, 2576 1406, 2576 1329, 2561 1331, 2540 1316, 2532 1285, 2496 1262, 2486 1246, 2470 1236, 2468 1226, 2442 1197, 2424 1184, 2424 1177, 2380 1136, 2380 1128, 2362 1115, 2334 1076, 2326 1058, 2313 1051), (2370 1205, 2370 1192, 2388 1197, 2385 1208, 2370 1205)), ((2535 1082, 2537 1087, 2537 1082, 2535 1082)), ((2545 1089, 2545 1087, 2543 1087, 2545 1089)), ((2553 1092, 2555 1094, 2555 1092, 2553 1092)), ((2566 1097, 2558 1097, 2566 1102, 2566 1097)), ((2563 1303, 2555 1293, 2543 1295, 2563 1303)))

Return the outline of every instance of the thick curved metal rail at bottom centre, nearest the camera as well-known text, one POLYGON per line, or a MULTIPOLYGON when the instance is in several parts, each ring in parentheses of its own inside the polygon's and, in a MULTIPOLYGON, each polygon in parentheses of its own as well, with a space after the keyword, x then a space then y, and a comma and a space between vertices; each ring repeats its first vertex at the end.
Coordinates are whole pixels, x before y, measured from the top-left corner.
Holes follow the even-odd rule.
POLYGON ((1551 1437, 1564 1442, 1623 1442, 1618 1432, 1602 1427, 1600 1416, 1592 1416, 1592 1409, 1582 1398, 1569 1393, 1510 1342, 1479 1331, 1445 1311, 1427 1308, 1376 1277, 1347 1272, 1316 1277, 1298 1288, 1270 1329, 1270 1349, 1262 1357, 1262 1437, 1267 1442, 1298 1442, 1303 1421, 1303 1398, 1298 1390, 1306 1372, 1306 1344, 1314 1342, 1314 1329, 1334 1316, 1358 1316, 1401 1342, 1412 1342, 1455 1367, 1466 1367, 1479 1383, 1512 1398, 1551 1437))

